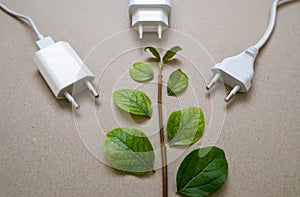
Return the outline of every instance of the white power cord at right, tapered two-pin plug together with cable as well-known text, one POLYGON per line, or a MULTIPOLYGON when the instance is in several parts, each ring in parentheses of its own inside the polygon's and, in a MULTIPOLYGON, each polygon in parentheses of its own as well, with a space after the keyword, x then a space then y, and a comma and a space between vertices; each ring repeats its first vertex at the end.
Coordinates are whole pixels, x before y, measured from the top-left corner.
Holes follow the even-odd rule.
POLYGON ((251 81, 254 76, 253 66, 255 58, 274 30, 277 8, 281 3, 289 1, 275 0, 273 2, 268 28, 263 37, 255 45, 249 47, 247 50, 236 56, 224 59, 221 63, 216 64, 212 68, 212 72, 215 75, 211 82, 206 86, 207 90, 210 90, 219 79, 222 79, 224 84, 233 88, 229 95, 225 98, 226 102, 230 101, 237 92, 248 92, 251 88, 251 81))

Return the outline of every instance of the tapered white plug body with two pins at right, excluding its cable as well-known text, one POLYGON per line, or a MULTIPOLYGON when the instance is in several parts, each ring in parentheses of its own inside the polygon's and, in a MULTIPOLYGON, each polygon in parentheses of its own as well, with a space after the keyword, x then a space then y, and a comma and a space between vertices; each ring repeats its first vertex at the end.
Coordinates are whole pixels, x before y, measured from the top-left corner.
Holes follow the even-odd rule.
POLYGON ((214 77, 206 89, 210 90, 221 79, 224 84, 233 88, 225 98, 226 102, 230 101, 237 92, 248 92, 254 76, 253 66, 257 54, 258 50, 250 47, 246 51, 216 64, 212 68, 214 77))

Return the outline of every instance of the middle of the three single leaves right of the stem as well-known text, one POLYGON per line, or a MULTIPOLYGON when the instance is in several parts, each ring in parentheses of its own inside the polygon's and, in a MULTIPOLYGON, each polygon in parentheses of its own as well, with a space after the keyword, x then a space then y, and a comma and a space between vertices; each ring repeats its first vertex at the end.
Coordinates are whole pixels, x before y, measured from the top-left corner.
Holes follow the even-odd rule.
POLYGON ((200 108, 190 107, 173 112, 167 123, 170 146, 195 143, 203 136, 204 126, 204 115, 200 108))

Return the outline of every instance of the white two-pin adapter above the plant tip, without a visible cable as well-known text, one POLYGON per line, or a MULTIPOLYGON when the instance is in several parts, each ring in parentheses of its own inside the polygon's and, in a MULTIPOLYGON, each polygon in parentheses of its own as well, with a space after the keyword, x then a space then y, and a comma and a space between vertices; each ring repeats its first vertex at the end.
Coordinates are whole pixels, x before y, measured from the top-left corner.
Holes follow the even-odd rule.
POLYGON ((170 0, 129 0, 129 13, 132 18, 131 26, 138 30, 140 39, 143 39, 144 32, 156 32, 158 39, 161 39, 162 32, 169 27, 171 2, 170 0))

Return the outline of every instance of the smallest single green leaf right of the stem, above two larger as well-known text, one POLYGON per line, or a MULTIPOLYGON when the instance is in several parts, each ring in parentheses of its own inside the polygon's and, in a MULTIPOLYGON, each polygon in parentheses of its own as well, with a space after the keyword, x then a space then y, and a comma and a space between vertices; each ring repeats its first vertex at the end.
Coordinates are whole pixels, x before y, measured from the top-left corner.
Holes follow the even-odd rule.
POLYGON ((188 76, 181 69, 174 71, 168 80, 167 91, 168 95, 175 95, 187 88, 189 83, 188 76))

